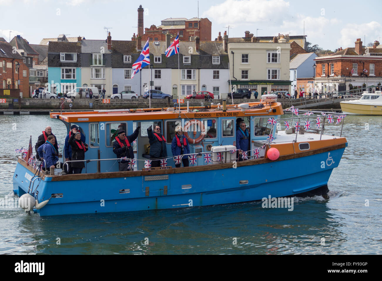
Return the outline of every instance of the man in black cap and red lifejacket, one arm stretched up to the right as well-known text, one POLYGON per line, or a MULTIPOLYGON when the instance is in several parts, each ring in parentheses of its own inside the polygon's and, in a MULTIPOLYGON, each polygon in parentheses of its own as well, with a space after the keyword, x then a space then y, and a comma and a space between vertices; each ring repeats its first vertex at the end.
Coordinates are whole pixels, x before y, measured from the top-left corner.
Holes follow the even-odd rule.
MULTIPOLYGON (((132 135, 126 136, 126 132, 124 130, 120 130, 118 132, 118 136, 115 137, 115 141, 113 144, 113 152, 117 154, 117 158, 130 158, 134 159, 134 151, 133 146, 131 143, 133 143, 134 140, 138 137, 139 134, 139 128, 141 126, 138 126, 134 133, 132 135)), ((129 160, 121 159, 118 160, 119 162, 119 171, 129 171, 129 160)))

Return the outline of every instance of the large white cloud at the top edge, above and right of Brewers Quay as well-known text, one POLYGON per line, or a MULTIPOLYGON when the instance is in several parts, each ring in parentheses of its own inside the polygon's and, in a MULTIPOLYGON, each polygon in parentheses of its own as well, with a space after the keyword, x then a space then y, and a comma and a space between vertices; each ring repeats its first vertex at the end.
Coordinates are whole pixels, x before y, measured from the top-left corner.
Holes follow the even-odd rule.
POLYGON ((289 2, 283 0, 226 0, 211 6, 202 14, 214 24, 270 23, 280 24, 289 9, 289 2))

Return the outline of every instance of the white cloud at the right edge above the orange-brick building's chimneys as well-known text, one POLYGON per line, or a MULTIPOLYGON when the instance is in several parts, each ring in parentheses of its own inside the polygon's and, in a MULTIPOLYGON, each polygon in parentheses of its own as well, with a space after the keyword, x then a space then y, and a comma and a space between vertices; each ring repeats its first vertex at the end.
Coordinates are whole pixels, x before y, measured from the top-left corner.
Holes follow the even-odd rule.
POLYGON ((347 47, 354 47, 354 42, 357 38, 361 38, 361 41, 363 42, 365 35, 366 42, 363 42, 362 44, 366 45, 369 42, 374 42, 379 39, 379 36, 382 34, 382 26, 376 21, 364 24, 349 23, 346 24, 345 28, 341 29, 340 34, 341 37, 337 40, 337 43, 344 49, 347 47))

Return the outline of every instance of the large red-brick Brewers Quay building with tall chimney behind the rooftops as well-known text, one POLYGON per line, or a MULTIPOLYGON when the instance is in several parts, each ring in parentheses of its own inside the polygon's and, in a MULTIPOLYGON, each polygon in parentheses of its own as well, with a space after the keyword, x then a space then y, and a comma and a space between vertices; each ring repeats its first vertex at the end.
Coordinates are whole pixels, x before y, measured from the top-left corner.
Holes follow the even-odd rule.
MULTIPOLYGON (((191 37, 198 36, 200 41, 211 41, 212 23, 208 18, 167 18, 161 21, 160 26, 152 24, 150 28, 144 28, 143 17, 144 9, 142 5, 138 8, 138 33, 142 37, 142 41, 165 41, 167 31, 170 37, 176 37, 179 32, 179 40, 189 41, 191 37)), ((134 40, 133 35, 131 40, 134 40)))

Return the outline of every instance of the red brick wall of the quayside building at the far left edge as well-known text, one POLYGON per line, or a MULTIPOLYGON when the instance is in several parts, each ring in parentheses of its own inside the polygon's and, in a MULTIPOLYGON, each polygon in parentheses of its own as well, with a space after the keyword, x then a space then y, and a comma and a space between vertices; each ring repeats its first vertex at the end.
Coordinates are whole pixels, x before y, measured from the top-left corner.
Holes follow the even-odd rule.
MULTIPOLYGON (((29 68, 23 63, 23 59, 0 57, 0 61, 3 62, 3 60, 5 60, 6 63, 7 62, 13 63, 13 71, 12 71, 12 68, 7 67, 6 72, 3 72, 3 68, 0 68, 0 73, 1 73, 0 88, 3 89, 3 80, 7 81, 8 79, 11 79, 10 88, 15 89, 16 88, 15 82, 19 79, 20 92, 23 92, 23 97, 29 97, 29 68), (20 63, 19 73, 16 73, 16 69, 15 69, 16 62, 20 63), (23 77, 23 70, 26 70, 26 77, 23 77)), ((8 89, 8 84, 5 84, 5 88, 8 89)))

